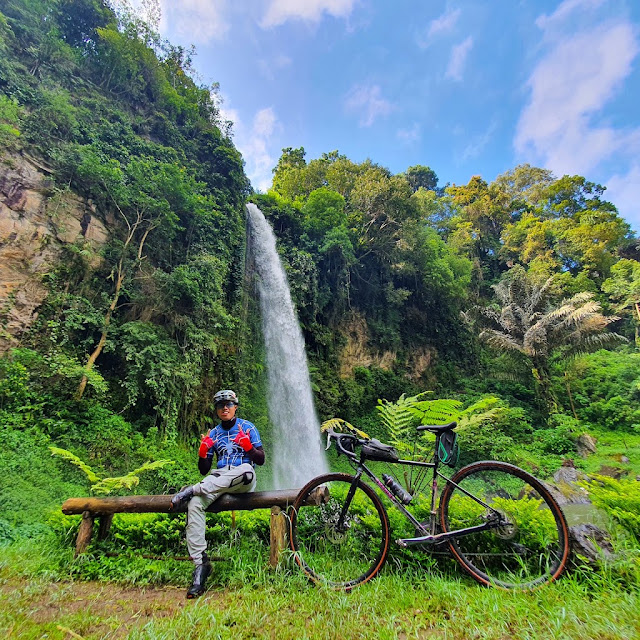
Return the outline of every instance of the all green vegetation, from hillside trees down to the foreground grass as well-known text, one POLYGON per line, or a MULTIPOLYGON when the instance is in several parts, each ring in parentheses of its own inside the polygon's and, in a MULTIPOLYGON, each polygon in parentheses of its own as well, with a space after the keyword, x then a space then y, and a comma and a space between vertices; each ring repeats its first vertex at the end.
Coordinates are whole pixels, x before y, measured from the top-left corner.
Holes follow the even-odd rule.
MULTIPOLYGON (((202 637, 212 625, 221 637, 639 635, 640 255, 604 188, 529 165, 440 187, 428 166, 394 175, 287 148, 272 188, 253 193, 217 86, 194 80, 194 52, 118 6, 0 0, 0 170, 45 172, 42 211, 57 232, 76 200, 81 227, 88 217, 105 229, 100 243, 83 232, 56 248, 28 330, 12 325, 19 292, 0 303, 0 590, 15 592, 0 630, 108 637, 112 613, 70 604, 80 580, 186 583, 189 565, 174 557, 182 516, 116 518, 111 537, 74 560, 78 519, 59 507, 99 479, 116 493, 194 482, 214 390, 239 392, 269 464, 244 269, 251 199, 278 237, 321 419, 416 455, 413 426, 457 419, 460 465, 497 458, 547 480, 571 459, 592 477, 617 555, 517 595, 396 550, 379 580, 345 597, 290 567, 266 572, 265 514, 223 514, 208 531, 224 558, 220 602, 150 616, 131 637, 202 637), (596 450, 583 458, 585 439, 596 450), (31 616, 51 585, 63 612, 31 616)), ((269 482, 266 468, 259 488, 269 482)))

